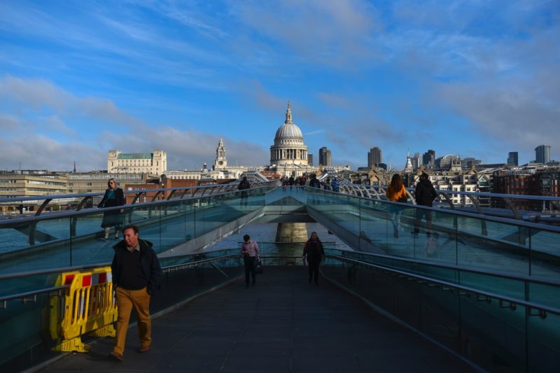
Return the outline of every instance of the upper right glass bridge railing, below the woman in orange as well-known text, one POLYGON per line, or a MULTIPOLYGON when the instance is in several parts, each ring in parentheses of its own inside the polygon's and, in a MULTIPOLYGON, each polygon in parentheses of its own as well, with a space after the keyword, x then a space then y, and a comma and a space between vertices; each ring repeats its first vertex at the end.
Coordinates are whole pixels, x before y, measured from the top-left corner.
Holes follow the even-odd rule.
POLYGON ((308 213, 361 251, 556 279, 560 227, 307 188, 308 213))

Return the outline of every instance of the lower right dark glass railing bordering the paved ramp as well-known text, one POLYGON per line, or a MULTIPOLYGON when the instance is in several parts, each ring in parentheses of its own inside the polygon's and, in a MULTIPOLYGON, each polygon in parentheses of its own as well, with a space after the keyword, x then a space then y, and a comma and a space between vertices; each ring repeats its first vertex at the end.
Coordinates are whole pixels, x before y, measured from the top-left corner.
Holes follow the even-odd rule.
POLYGON ((456 270, 450 279, 441 267, 415 269, 376 264, 357 253, 330 253, 323 274, 483 370, 556 371, 559 283, 456 270), (502 288, 489 290, 491 283, 502 288))

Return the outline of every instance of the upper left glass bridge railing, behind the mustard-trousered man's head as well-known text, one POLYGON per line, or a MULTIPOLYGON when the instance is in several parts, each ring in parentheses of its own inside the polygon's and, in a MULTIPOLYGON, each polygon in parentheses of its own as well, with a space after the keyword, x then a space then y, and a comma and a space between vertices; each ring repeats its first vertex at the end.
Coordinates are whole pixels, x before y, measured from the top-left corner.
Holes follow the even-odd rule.
POLYGON ((114 228, 109 241, 102 241, 105 219, 120 228, 139 225, 141 236, 165 251, 262 208, 275 187, 272 182, 244 192, 224 191, 221 185, 186 188, 188 197, 0 220, 0 273, 109 260, 116 241, 114 228))

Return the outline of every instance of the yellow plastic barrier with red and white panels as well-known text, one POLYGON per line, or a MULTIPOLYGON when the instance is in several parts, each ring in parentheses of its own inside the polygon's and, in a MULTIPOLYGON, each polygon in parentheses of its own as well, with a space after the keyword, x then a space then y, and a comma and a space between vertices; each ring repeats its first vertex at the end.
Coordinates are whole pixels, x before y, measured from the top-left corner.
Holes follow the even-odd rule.
POLYGON ((56 286, 70 285, 59 306, 58 297, 51 300, 50 335, 57 340, 55 351, 87 352, 80 336, 115 337, 113 323, 117 305, 113 297, 111 267, 59 274, 56 286))

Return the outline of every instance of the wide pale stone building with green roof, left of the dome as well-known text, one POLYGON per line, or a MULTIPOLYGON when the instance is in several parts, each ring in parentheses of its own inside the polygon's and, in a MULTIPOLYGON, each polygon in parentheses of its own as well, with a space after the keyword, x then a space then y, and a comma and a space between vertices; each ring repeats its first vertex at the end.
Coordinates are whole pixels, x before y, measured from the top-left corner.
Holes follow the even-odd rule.
POLYGON ((109 174, 153 174, 161 175, 167 171, 167 153, 154 150, 153 153, 120 153, 109 150, 107 172, 109 174))

